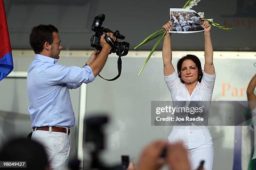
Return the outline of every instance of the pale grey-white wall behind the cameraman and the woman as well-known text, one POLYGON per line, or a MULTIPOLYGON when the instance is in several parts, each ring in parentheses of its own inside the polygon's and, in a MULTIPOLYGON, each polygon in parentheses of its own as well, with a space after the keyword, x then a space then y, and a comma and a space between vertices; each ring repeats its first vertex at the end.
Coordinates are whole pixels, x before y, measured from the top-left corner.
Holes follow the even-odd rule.
MULTIPOLYGON (((149 52, 129 52, 123 57, 122 74, 118 80, 108 82, 96 77, 87 85, 86 114, 107 112, 111 116, 107 128, 108 150, 104 158, 108 163, 120 162, 120 155, 138 158, 141 148, 152 140, 166 139, 172 130, 169 126, 151 126, 151 101, 171 100, 164 82, 161 52, 157 51, 138 77, 149 52), (137 53, 137 55, 136 55, 137 53)), ((203 52, 174 52, 173 63, 184 54, 196 54, 203 65, 203 52)), ((82 66, 90 51, 63 51, 59 63, 82 66), (70 53, 71 52, 71 53, 70 53)), ((246 100, 246 88, 256 73, 253 66, 255 52, 215 52, 217 73, 212 100, 246 100), (238 56, 237 56, 238 55, 238 56), (228 89, 228 84, 230 88, 228 89), (236 94, 236 89, 238 93, 236 94)), ((14 71, 27 71, 33 60, 33 52, 13 50, 14 71)), ((109 57, 101 75, 112 78, 117 75, 117 57, 109 57)), ((70 90, 76 118, 79 112, 79 89, 70 90)), ((4 79, 0 82, 0 139, 6 140, 30 132, 26 79, 4 79), (9 112, 6 114, 5 112, 9 112)), ((78 124, 77 124, 78 127, 78 124)), ((233 165, 234 127, 210 127, 215 149, 214 169, 231 169, 233 165)), ((247 168, 250 154, 251 132, 243 127, 243 169, 247 168)), ((77 128, 71 133, 71 157, 77 153, 77 128)), ((87 158, 87 157, 85 157, 87 158)))

